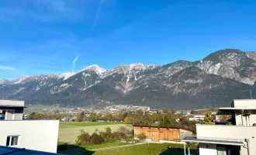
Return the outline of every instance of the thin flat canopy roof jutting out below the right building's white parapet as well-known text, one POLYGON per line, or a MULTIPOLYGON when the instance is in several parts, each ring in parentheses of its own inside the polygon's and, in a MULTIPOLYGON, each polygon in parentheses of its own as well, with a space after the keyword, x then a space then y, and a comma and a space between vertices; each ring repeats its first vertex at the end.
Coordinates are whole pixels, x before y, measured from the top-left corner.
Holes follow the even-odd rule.
POLYGON ((189 143, 214 143, 214 144, 222 144, 222 145, 232 145, 232 146, 244 146, 244 142, 230 140, 207 140, 207 139, 198 139, 196 136, 187 136, 182 142, 189 143))

